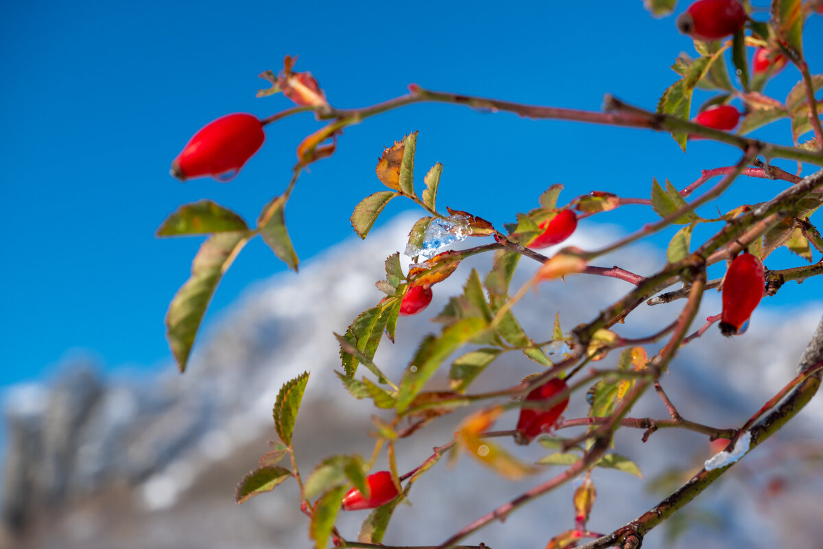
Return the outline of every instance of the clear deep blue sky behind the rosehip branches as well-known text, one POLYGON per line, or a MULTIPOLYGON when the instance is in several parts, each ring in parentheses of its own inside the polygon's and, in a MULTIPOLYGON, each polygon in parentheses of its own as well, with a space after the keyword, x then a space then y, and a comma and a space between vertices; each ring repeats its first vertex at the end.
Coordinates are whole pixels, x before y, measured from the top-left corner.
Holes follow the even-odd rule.
MULTIPOLYGON (((823 72, 823 17, 808 25, 807 58, 812 72, 823 72)), ((611 92, 653 109, 677 79, 669 67, 681 51, 694 55, 674 17, 655 20, 639 0, 7 3, 0 9, 0 385, 44 375, 75 349, 93 351, 109 368, 172 367, 165 309, 200 239, 156 240, 154 230, 200 198, 253 221, 281 193, 295 147, 319 123, 306 114, 267 128, 263 150, 230 184, 179 184, 168 175, 170 161, 222 114, 263 117, 290 106, 281 95, 254 97, 267 87, 258 73, 277 72, 285 54, 299 54, 297 70, 313 72, 338 107, 402 95, 416 82, 580 109, 599 109, 611 92)), ((783 99, 795 81, 789 68, 767 91, 783 99)), ((693 114, 706 97, 695 99, 693 114)), ((692 143, 684 155, 664 133, 407 107, 347 129, 337 154, 300 179, 286 217, 302 259, 351 237, 351 209, 382 188, 374 177, 380 152, 415 129, 419 170, 445 165, 439 203, 495 224, 534 207, 552 183, 566 185, 563 202, 593 189, 648 197, 653 176, 681 188, 701 169, 739 156, 709 142, 692 143)), ((790 139, 786 123, 758 135, 790 139)), ((782 186, 741 179, 735 196, 759 202, 782 186)), ((393 202, 386 219, 408 207, 393 202)), ((601 216, 632 229, 653 217, 648 207, 601 216)), ((665 245, 672 233, 654 241, 665 245)), ((799 263, 779 254, 767 266, 799 263)), ((206 322, 250 282, 281 270, 254 241, 221 283, 206 322)), ((821 288, 790 284, 769 305, 797 305, 823 295, 821 288)))

